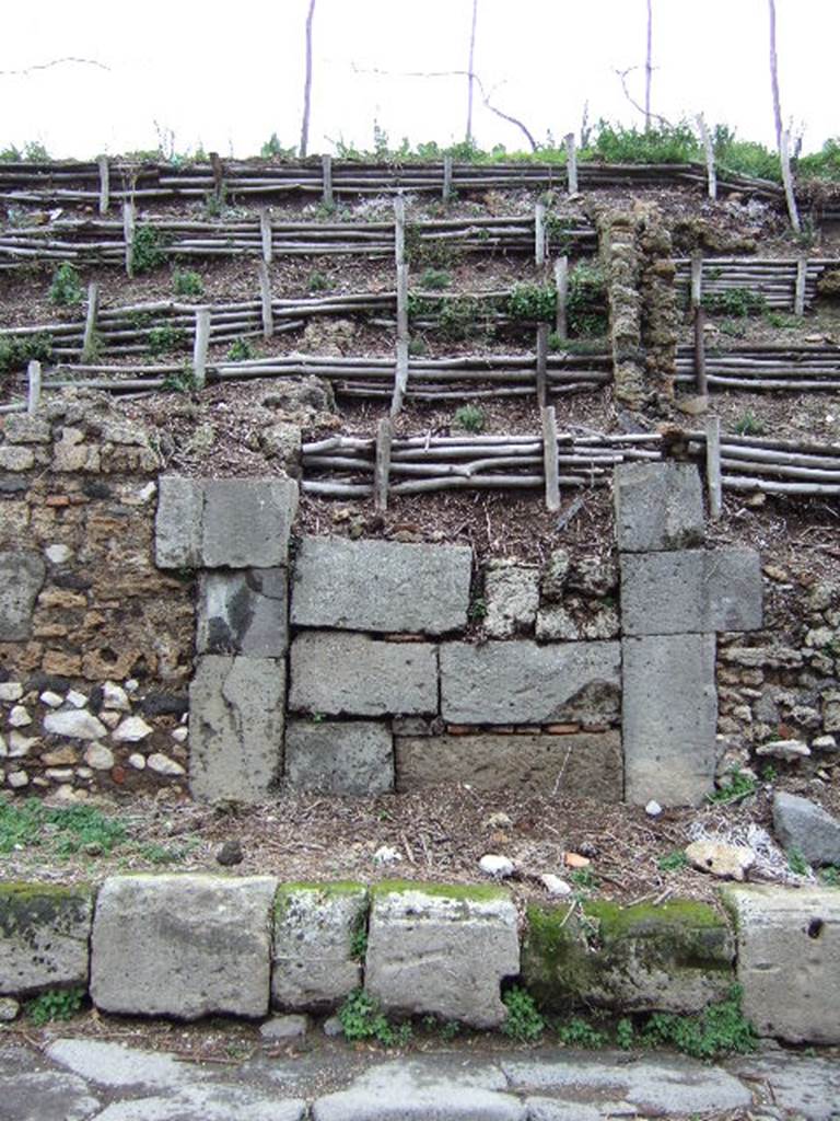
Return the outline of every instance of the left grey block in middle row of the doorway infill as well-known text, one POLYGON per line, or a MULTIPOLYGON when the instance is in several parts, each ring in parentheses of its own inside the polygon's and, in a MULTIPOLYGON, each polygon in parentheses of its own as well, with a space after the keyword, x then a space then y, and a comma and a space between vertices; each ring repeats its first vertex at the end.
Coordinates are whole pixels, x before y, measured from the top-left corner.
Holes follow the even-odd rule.
POLYGON ((438 707, 437 647, 310 631, 291 643, 289 707, 356 716, 416 715, 438 707))

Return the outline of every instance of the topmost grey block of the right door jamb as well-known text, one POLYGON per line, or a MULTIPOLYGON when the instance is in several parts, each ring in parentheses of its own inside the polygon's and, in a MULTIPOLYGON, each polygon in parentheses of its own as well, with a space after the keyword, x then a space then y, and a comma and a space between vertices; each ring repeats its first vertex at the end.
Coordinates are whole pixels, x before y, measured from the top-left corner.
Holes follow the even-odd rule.
POLYGON ((614 474, 618 548, 645 553, 703 541, 703 493, 691 463, 620 463, 614 474))

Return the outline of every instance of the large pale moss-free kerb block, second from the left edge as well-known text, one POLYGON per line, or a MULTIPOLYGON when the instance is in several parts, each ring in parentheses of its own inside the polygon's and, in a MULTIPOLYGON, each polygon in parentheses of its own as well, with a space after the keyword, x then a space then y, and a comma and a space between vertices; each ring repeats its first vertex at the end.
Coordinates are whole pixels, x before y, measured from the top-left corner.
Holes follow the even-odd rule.
POLYGON ((106 1012, 265 1016, 269 876, 115 876, 96 901, 91 997, 106 1012))

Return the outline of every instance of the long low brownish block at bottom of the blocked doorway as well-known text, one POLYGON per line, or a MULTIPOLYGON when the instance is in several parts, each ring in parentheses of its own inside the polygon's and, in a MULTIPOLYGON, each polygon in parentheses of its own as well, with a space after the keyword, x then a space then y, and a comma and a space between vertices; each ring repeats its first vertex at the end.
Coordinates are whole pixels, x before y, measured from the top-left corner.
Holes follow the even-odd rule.
POLYGON ((620 802, 618 732, 577 735, 427 735, 400 738, 396 789, 467 782, 475 790, 569 794, 620 802))

